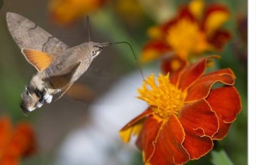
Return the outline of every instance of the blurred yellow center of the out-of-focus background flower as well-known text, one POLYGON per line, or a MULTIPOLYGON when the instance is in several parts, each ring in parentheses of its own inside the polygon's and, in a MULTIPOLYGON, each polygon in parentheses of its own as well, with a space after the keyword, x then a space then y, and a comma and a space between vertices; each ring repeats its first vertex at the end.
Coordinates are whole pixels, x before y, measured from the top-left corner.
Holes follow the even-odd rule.
POLYGON ((198 24, 186 18, 169 28, 166 40, 183 58, 190 53, 202 53, 208 48, 205 34, 200 31, 198 24))

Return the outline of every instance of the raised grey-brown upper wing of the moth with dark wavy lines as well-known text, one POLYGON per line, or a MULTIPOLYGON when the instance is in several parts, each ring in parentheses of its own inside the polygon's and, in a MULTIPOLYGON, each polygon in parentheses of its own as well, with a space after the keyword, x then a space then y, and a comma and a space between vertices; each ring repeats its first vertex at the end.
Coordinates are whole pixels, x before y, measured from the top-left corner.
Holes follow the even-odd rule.
POLYGON ((41 29, 34 22, 16 13, 6 14, 8 29, 19 48, 32 49, 56 56, 69 46, 41 29))

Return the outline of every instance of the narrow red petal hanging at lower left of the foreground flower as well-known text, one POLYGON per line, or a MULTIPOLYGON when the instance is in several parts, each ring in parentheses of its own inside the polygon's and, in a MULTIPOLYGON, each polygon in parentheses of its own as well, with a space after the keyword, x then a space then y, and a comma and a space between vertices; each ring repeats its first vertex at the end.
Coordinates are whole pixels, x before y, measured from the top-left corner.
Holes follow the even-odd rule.
POLYGON ((154 115, 148 116, 142 126, 136 145, 142 150, 144 162, 151 159, 155 153, 155 143, 157 141, 162 121, 159 121, 154 115))

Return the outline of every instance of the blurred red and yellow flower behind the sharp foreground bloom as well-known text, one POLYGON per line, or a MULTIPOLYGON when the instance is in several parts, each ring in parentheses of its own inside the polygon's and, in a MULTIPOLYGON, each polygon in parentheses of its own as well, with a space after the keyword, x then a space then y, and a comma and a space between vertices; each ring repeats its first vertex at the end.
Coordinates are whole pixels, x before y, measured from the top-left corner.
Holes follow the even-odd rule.
POLYGON ((193 0, 181 8, 175 18, 148 29, 151 40, 142 50, 141 61, 154 60, 168 52, 187 59, 205 51, 221 50, 230 38, 230 34, 221 29, 229 18, 229 12, 222 5, 203 9, 203 0, 193 0))

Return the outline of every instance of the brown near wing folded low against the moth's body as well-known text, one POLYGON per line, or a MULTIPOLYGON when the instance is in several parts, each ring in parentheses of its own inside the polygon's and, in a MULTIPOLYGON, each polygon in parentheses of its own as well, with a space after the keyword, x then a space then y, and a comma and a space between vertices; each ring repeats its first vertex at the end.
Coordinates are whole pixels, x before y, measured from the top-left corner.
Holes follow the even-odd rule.
POLYGON ((78 62, 70 66, 68 69, 55 72, 54 75, 48 75, 47 78, 42 79, 45 82, 44 85, 52 89, 62 89, 69 86, 69 84, 72 83, 71 79, 80 63, 81 62, 78 62))

